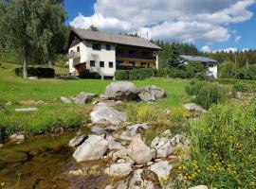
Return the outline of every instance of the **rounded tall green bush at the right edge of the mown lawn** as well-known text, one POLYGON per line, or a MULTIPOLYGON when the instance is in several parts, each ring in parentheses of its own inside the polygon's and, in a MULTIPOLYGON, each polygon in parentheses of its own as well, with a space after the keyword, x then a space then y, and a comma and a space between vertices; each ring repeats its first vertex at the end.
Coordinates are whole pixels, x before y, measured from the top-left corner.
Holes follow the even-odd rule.
POLYGON ((192 81, 186 87, 187 94, 194 95, 194 102, 204 109, 209 109, 213 104, 224 103, 228 99, 228 91, 218 83, 206 81, 192 81))

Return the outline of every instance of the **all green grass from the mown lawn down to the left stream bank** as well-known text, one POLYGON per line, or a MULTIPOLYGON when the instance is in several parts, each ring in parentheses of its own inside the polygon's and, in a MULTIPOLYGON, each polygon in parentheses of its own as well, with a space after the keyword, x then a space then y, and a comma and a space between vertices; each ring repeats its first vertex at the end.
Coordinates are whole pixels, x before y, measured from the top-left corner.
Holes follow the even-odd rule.
MULTIPOLYGON (((42 78, 29 80, 14 75, 14 69, 18 66, 18 64, 10 63, 2 63, 0 66, 0 105, 8 101, 12 102, 12 106, 6 107, 0 112, 0 129, 2 130, 0 139, 18 131, 32 135, 50 132, 60 127, 69 129, 81 126, 88 121, 92 105, 66 105, 58 101, 58 98, 73 96, 81 92, 102 94, 105 87, 112 82, 111 80, 100 79, 63 80, 42 78), (21 100, 44 100, 46 104, 22 105, 19 103, 21 100), (14 111, 15 108, 26 107, 36 107, 39 111, 14 111)), ((63 73, 64 69, 57 69, 57 73, 59 72, 63 73)), ((181 105, 187 99, 185 93, 186 80, 151 78, 133 82, 137 87, 156 85, 166 90, 168 97, 158 99, 151 109, 155 109, 156 106, 160 109, 171 109, 181 105)), ((139 106, 146 104, 144 102, 138 103, 139 106)), ((141 113, 143 114, 140 111, 141 113)))

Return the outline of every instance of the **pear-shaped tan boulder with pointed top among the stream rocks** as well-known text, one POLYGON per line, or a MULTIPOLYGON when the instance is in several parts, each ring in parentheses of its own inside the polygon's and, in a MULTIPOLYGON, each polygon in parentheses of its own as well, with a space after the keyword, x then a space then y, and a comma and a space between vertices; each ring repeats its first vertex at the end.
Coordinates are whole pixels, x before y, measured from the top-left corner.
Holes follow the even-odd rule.
POLYGON ((127 148, 127 153, 137 164, 149 163, 152 160, 151 149, 143 143, 139 134, 133 137, 127 148))

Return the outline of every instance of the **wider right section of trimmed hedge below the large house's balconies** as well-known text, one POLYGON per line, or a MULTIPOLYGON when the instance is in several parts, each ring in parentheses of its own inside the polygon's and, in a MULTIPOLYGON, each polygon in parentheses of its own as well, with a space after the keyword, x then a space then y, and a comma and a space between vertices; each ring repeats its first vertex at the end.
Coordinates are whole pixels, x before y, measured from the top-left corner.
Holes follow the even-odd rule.
POLYGON ((130 80, 142 80, 149 77, 155 76, 155 69, 153 68, 141 68, 130 70, 129 78, 130 80))

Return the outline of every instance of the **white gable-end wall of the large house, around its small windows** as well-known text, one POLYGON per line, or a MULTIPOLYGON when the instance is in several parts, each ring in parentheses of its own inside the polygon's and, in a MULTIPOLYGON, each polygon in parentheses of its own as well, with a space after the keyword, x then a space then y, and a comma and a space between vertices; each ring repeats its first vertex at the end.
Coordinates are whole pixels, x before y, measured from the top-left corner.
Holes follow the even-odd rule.
POLYGON ((101 43, 101 50, 93 50, 92 43, 84 41, 69 49, 77 51, 80 46, 81 58, 78 60, 69 59, 69 72, 73 73, 74 66, 78 63, 86 62, 86 68, 98 72, 101 76, 113 77, 116 71, 116 46, 109 43, 101 43), (106 50, 106 44, 109 44, 111 50, 106 50), (95 60, 95 67, 90 67, 90 60, 95 60), (100 61, 104 61, 104 67, 100 67, 100 61), (109 68, 109 62, 113 62, 113 68, 109 68))

